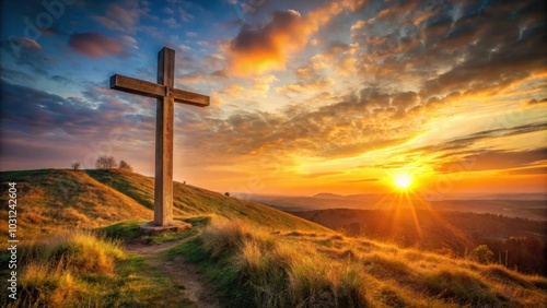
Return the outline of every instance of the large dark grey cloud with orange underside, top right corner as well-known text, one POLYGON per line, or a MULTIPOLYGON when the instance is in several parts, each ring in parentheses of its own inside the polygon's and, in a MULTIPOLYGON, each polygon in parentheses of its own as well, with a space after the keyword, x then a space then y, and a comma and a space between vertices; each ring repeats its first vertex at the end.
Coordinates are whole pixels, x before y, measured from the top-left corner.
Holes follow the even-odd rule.
POLYGON ((352 23, 352 42, 360 45, 354 67, 366 82, 424 100, 502 94, 545 71, 544 7, 538 0, 384 2, 375 15, 352 23))

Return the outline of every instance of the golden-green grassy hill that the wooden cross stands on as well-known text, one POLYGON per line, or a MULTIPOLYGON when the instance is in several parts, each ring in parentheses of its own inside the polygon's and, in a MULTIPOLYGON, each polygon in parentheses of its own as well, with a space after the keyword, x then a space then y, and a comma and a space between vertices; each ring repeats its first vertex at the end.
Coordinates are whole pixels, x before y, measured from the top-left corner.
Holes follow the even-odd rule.
MULTIPOLYGON (((25 239, 19 276, 25 298, 13 307, 196 307, 179 296, 185 286, 173 280, 185 275, 173 270, 185 262, 194 264, 226 307, 547 303, 547 279, 542 276, 349 238, 265 205, 183 183, 174 187, 175 216, 195 229, 151 263, 125 251, 140 240, 139 222, 151 218, 151 178, 120 171, 32 170, 1 173, 0 181, 4 204, 7 182, 18 182, 19 228, 25 239), (74 232, 90 227, 103 235, 74 232), (51 238, 54 234, 58 236, 51 238), (171 270, 154 270, 163 263, 171 270)), ((5 212, 0 215, 2 233, 5 212)), ((0 253, 2 277, 8 259, 0 253)))

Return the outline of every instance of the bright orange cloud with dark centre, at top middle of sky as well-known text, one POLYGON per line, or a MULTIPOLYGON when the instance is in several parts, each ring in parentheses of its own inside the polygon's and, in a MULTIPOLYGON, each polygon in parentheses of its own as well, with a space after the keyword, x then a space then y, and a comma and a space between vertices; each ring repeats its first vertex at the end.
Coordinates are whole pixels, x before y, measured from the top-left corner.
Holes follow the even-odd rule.
POLYGON ((294 10, 276 11, 271 21, 263 27, 244 25, 228 47, 230 71, 245 76, 283 70, 289 55, 302 49, 319 27, 345 10, 356 10, 363 2, 337 1, 306 16, 294 10))

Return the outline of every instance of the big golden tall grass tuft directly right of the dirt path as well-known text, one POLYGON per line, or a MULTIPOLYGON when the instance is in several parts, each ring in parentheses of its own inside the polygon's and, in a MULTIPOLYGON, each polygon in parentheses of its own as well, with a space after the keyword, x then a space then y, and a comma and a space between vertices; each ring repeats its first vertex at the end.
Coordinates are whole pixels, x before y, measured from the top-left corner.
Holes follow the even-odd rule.
MULTIPOLYGON (((252 229, 241 221, 213 220, 201 235, 211 257, 229 258, 237 281, 260 307, 338 307, 366 305, 361 271, 329 262, 310 245, 296 247, 252 229)), ((225 285, 225 288, 233 285, 225 285)))

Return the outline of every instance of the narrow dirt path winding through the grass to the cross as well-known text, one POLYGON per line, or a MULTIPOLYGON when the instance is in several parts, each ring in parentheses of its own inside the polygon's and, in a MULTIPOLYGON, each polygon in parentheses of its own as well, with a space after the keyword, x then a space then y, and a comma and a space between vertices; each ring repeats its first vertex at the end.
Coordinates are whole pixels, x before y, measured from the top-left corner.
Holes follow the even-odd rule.
POLYGON ((144 257, 147 265, 158 269, 163 275, 171 277, 175 283, 184 286, 179 292, 184 297, 196 303, 197 307, 220 308, 222 306, 217 299, 217 295, 211 287, 207 286, 203 276, 196 271, 191 263, 182 257, 176 257, 173 261, 167 261, 161 256, 163 251, 193 238, 184 238, 161 245, 128 244, 125 245, 125 249, 128 252, 144 257))

